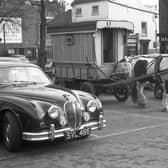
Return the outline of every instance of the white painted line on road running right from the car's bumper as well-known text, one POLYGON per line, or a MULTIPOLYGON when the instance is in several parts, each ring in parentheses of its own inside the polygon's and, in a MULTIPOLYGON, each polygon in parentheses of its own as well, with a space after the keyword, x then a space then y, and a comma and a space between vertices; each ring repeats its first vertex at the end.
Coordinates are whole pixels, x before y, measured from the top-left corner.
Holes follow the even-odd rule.
POLYGON ((153 129, 153 128, 162 127, 162 126, 168 126, 168 123, 162 123, 162 124, 158 124, 158 125, 151 125, 151 126, 141 127, 141 128, 137 128, 137 129, 131 129, 131 130, 127 130, 127 131, 120 131, 120 132, 116 132, 116 133, 112 133, 112 134, 98 136, 97 138, 92 138, 92 140, 104 139, 104 138, 107 138, 107 137, 119 136, 119 135, 129 134, 129 133, 135 133, 135 132, 140 132, 140 131, 144 131, 144 130, 147 130, 147 129, 153 129))

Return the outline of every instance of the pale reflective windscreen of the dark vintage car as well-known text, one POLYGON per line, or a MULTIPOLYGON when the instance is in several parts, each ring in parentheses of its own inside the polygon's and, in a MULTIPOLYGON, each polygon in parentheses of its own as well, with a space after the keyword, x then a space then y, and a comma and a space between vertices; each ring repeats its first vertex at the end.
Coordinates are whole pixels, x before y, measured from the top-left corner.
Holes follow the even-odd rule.
POLYGON ((0 68, 0 84, 34 82, 36 84, 50 84, 50 79, 43 71, 36 67, 3 67, 0 68))

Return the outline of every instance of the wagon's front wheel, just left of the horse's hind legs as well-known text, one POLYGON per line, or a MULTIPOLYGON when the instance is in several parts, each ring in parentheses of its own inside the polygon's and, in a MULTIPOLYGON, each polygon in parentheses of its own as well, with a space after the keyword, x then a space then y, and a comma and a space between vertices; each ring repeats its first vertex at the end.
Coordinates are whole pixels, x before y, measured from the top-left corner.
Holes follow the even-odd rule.
POLYGON ((115 87, 114 96, 120 102, 126 101, 129 97, 129 87, 127 85, 120 85, 115 87))

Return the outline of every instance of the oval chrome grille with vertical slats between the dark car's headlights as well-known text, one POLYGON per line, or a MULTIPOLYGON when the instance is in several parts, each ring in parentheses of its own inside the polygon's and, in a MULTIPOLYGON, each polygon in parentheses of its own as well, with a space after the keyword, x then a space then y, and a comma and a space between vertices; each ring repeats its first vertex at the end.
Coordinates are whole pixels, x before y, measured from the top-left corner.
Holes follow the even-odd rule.
POLYGON ((68 125, 71 128, 79 128, 82 122, 82 111, 77 102, 67 101, 64 105, 68 125))

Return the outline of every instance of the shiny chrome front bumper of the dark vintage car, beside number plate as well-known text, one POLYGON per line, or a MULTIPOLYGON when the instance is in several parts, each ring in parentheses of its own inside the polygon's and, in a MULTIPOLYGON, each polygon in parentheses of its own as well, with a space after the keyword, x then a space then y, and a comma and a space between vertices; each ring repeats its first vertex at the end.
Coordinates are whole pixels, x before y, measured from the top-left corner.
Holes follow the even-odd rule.
MULTIPOLYGON (((106 127, 106 120, 100 120, 98 122, 89 122, 81 125, 80 129, 90 128, 92 130, 101 130, 106 127)), ((54 140, 56 138, 61 138, 65 136, 65 133, 71 131, 72 128, 63 128, 56 130, 54 124, 50 125, 50 129, 48 131, 43 132, 23 132, 22 139, 26 141, 45 141, 45 140, 54 140)))

